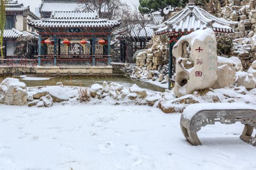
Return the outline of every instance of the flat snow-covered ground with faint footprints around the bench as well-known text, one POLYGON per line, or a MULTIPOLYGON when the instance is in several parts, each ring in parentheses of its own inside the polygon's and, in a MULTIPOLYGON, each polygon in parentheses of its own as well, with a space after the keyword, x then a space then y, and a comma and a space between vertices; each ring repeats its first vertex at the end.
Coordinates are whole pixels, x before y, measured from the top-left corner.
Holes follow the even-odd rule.
POLYGON ((148 106, 0 105, 0 170, 256 169, 241 124, 203 127, 195 147, 179 119, 148 106))

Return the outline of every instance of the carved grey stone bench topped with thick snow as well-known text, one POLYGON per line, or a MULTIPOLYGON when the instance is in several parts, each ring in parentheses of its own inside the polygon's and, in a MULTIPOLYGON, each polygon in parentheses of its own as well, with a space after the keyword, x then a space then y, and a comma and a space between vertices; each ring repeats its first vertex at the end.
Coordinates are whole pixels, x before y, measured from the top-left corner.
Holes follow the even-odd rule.
POLYGON ((221 122, 226 125, 241 122, 241 124, 244 124, 244 130, 240 139, 256 146, 256 136, 251 136, 253 128, 256 129, 256 107, 242 103, 189 105, 180 118, 180 128, 189 143, 201 145, 197 132, 201 127, 214 125, 215 122, 221 122))

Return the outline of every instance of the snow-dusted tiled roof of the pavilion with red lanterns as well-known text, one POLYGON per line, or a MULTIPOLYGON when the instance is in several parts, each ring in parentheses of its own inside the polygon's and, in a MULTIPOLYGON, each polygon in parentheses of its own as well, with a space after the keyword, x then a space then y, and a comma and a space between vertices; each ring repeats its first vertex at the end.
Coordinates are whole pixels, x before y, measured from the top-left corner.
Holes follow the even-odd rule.
POLYGON ((120 20, 108 20, 98 17, 97 12, 53 11, 50 18, 28 19, 28 25, 35 28, 115 28, 120 20))

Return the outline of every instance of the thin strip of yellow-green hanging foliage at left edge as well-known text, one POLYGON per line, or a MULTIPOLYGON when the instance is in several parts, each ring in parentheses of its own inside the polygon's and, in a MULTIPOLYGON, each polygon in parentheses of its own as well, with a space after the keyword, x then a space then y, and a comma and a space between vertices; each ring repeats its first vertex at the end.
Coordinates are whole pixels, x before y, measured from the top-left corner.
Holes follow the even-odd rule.
POLYGON ((7 0, 0 0, 0 48, 1 48, 1 57, 3 59, 3 31, 5 28, 6 22, 6 2, 7 0))

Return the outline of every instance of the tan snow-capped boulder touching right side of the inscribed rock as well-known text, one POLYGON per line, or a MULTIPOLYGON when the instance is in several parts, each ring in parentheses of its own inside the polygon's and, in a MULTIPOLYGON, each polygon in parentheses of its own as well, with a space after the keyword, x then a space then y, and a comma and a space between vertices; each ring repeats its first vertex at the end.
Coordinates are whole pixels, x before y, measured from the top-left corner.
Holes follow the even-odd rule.
POLYGON ((227 64, 218 67, 217 69, 218 79, 212 85, 212 89, 224 88, 230 85, 234 85, 236 82, 236 71, 230 68, 227 64))

